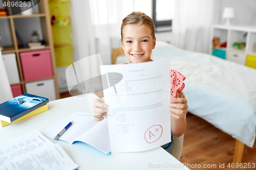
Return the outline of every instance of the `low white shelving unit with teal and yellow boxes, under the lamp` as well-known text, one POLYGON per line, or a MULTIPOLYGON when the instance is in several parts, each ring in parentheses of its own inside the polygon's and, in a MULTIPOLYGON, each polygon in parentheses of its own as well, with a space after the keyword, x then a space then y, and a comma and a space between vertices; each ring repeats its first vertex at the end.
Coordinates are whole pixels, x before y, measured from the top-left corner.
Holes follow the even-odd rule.
POLYGON ((252 26, 214 25, 210 32, 209 54, 226 60, 234 61, 249 67, 256 68, 256 28, 252 26), (219 37, 220 42, 227 42, 226 48, 212 50, 212 39, 219 37), (246 42, 245 48, 233 47, 234 42, 246 42), (220 56, 220 55, 224 55, 220 56))

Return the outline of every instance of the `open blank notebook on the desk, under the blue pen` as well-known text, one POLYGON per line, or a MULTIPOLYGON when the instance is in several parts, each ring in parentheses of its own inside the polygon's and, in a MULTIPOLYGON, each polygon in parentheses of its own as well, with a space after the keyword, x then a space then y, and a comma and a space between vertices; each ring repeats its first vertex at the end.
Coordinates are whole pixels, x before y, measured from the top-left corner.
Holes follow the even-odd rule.
POLYGON ((65 140, 70 144, 82 141, 92 145, 105 154, 109 154, 109 130, 106 120, 97 122, 92 113, 74 112, 58 123, 42 131, 42 134, 54 138, 69 122, 73 121, 71 127, 58 139, 65 140), (99 125, 100 124, 100 125, 99 125))

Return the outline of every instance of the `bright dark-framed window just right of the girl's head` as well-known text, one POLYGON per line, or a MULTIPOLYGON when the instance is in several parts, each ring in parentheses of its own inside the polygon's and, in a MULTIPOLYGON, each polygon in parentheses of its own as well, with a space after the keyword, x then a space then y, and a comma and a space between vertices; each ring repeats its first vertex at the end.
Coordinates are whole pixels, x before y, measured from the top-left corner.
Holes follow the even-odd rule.
POLYGON ((171 31, 175 0, 152 0, 152 19, 157 32, 171 31))

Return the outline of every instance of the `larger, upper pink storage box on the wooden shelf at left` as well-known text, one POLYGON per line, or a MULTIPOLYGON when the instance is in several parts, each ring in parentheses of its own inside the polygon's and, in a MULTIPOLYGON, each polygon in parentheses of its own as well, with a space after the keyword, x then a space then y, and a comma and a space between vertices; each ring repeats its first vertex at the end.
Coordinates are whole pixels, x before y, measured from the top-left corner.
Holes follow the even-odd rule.
POLYGON ((19 53, 24 81, 52 77, 50 50, 19 53))

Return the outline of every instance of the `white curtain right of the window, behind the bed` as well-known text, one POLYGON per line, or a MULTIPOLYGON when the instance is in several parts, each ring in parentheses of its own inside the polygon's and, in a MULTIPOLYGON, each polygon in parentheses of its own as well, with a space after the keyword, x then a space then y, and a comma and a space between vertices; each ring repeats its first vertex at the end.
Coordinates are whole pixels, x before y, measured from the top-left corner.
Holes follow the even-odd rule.
POLYGON ((185 50, 207 53, 215 6, 215 0, 176 0, 172 43, 185 50))

